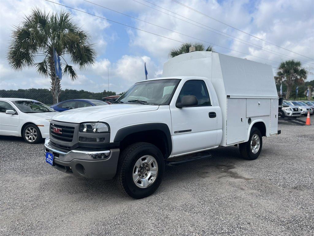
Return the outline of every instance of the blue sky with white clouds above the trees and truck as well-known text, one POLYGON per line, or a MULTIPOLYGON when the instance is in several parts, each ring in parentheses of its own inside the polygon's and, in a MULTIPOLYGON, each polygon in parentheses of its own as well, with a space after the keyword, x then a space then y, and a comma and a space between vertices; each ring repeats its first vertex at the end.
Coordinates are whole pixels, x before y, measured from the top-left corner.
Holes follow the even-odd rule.
MULTIPOLYGON (((95 44, 98 53, 96 63, 83 71, 77 69, 76 81, 71 81, 64 76, 61 82, 63 89, 84 89, 92 92, 108 90, 107 70, 109 69, 109 89, 117 93, 123 92, 134 82, 144 79, 144 62, 147 65, 149 78, 160 76, 169 51, 171 48, 178 47, 180 42, 198 41, 205 46, 212 43, 219 53, 266 63, 275 68, 280 62, 294 58, 300 60, 311 73, 314 72, 314 1, 312 0, 89 0, 100 6, 84 0, 51 1, 102 18, 45 0, 1 0, 0 89, 49 88, 50 86, 49 78, 37 75, 34 69, 13 71, 6 60, 13 26, 19 24, 24 15, 27 16, 34 7, 45 9, 46 12, 69 10, 73 14, 73 20, 89 32, 92 43, 95 44), (103 18, 164 37, 119 25, 103 18)), ((312 79, 313 75, 309 74, 308 80, 312 79)))

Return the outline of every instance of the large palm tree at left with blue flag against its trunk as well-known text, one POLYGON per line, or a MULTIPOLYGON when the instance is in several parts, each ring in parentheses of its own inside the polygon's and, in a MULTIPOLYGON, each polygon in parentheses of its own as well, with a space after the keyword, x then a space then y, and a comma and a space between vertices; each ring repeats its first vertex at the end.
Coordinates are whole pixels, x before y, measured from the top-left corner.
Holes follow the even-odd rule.
POLYGON ((96 59, 96 52, 89 41, 89 34, 73 22, 70 12, 54 14, 34 8, 29 16, 14 26, 7 59, 13 70, 35 67, 39 75, 49 76, 53 102, 56 103, 61 87, 54 69, 54 48, 64 61, 63 74, 75 80, 77 73, 63 56, 67 55, 80 69, 85 69, 96 59))

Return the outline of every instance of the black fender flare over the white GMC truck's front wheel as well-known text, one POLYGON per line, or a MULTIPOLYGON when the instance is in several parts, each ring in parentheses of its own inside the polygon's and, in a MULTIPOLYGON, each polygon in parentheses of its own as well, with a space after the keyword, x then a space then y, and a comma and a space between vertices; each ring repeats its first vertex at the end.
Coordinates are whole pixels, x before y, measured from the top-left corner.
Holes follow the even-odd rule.
POLYGON ((162 131, 166 135, 165 141, 168 144, 168 155, 170 155, 172 152, 172 138, 171 138, 169 127, 165 123, 145 123, 145 124, 138 124, 138 125, 132 125, 132 126, 121 128, 116 133, 116 136, 113 142, 121 142, 125 137, 127 137, 130 134, 143 132, 143 131, 150 131, 150 130, 151 131, 159 130, 159 131, 162 131))

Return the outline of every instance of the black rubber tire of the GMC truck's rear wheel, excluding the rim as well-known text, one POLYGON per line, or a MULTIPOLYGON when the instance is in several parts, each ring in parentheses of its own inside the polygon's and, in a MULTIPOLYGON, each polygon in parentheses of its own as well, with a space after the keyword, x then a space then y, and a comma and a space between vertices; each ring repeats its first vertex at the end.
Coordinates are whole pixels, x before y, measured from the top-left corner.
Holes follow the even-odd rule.
POLYGON ((259 131, 258 128, 256 127, 252 127, 251 132, 250 132, 250 138, 247 142, 245 143, 240 143, 239 144, 239 149, 240 149, 240 154, 241 156, 246 159, 246 160, 255 160, 257 159, 257 157, 260 155, 261 151, 262 151, 262 147, 263 147, 263 138, 262 138, 262 134, 259 131), (254 154, 251 150, 251 139, 252 136, 257 134, 260 140, 260 146, 259 149, 257 151, 256 154, 254 154))

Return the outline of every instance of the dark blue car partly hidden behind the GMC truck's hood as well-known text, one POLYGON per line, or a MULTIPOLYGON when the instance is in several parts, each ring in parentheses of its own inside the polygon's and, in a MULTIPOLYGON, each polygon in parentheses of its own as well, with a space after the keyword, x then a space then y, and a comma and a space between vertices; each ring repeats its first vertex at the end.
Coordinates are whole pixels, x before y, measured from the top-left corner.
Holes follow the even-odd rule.
POLYGON ((51 105, 55 111, 67 111, 74 108, 108 105, 108 103, 94 99, 71 99, 51 105))

